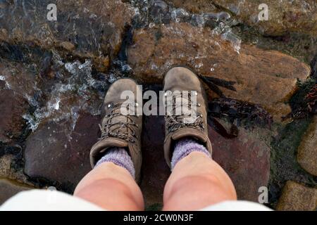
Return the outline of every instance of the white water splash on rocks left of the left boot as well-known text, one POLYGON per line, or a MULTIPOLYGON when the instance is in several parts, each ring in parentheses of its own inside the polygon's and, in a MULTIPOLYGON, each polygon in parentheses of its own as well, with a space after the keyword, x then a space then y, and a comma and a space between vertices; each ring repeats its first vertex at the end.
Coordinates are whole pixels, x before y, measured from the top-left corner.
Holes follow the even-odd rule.
MULTIPOLYGON (((81 110, 88 111, 92 115, 101 113, 99 105, 96 105, 92 99, 96 98, 94 90, 106 84, 92 77, 92 62, 85 60, 85 63, 80 63, 76 60, 73 63, 61 63, 59 59, 58 62, 70 73, 70 77, 54 84, 46 96, 48 99, 46 104, 37 107, 32 114, 23 115, 32 131, 35 131, 39 124, 46 119, 54 122, 67 120, 70 122, 70 129, 73 130, 81 110)), ((103 97, 104 94, 97 94, 98 99, 103 97)), ((33 103, 33 105, 35 104, 38 105, 38 103, 33 103)))

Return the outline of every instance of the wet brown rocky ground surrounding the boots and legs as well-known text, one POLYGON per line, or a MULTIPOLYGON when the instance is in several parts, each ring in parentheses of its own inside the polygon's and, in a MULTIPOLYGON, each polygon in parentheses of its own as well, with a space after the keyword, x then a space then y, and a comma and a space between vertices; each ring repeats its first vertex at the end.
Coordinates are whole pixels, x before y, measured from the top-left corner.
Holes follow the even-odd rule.
MULTIPOLYGON (((268 21, 261 1, 57 0, 49 21, 51 3, 0 0, 0 204, 30 188, 72 193, 108 86, 131 77, 159 91, 186 65, 208 92, 213 158, 239 199, 257 202, 264 186, 273 209, 316 210, 316 1, 267 1, 268 21)), ((149 210, 170 174, 163 132, 163 117, 144 118, 149 210)))

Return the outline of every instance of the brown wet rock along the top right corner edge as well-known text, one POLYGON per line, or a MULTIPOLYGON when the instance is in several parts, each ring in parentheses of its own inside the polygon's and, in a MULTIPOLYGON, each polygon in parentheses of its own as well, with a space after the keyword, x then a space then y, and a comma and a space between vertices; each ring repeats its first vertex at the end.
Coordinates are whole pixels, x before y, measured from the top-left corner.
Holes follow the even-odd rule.
POLYGON ((315 0, 261 1, 261 0, 170 0, 175 6, 184 7, 193 13, 208 13, 225 8, 236 15, 242 23, 258 27, 263 34, 281 35, 286 32, 317 34, 317 3, 315 0), (268 20, 259 20, 260 4, 268 6, 268 20))

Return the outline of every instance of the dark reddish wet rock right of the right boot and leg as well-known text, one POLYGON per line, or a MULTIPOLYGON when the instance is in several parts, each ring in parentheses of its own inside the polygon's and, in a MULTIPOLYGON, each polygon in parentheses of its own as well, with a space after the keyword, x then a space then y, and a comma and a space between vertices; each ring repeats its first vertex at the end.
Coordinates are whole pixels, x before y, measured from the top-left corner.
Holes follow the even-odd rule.
POLYGON ((270 148, 241 127, 235 139, 225 139, 209 127, 209 139, 213 159, 232 179, 238 198, 258 202, 259 188, 268 186, 270 148))

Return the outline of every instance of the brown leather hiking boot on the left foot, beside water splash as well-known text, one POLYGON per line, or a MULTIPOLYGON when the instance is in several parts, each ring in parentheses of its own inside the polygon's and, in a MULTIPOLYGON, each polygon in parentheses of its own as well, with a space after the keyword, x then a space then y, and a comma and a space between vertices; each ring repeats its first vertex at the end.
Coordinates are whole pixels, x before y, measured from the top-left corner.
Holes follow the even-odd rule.
POLYGON ((132 79, 119 79, 108 89, 101 112, 101 138, 92 146, 90 163, 94 167, 111 147, 125 148, 135 166, 135 180, 139 181, 142 165, 142 115, 137 115, 137 112, 142 112, 142 99, 137 99, 137 91, 141 92, 142 98, 142 91, 132 79), (123 104, 126 99, 120 99, 123 91, 132 91, 134 94, 135 101, 130 105, 135 112, 133 115, 122 114, 121 107, 129 109, 129 105, 123 104))

